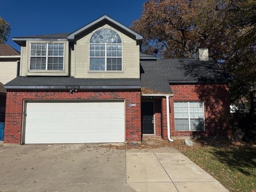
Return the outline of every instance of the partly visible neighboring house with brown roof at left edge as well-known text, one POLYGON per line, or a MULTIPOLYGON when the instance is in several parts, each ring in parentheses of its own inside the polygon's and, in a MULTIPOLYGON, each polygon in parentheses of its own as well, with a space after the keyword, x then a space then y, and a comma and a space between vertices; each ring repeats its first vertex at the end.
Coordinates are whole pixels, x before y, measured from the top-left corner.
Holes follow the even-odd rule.
POLYGON ((20 52, 10 45, 0 43, 0 122, 5 119, 6 89, 4 84, 13 80, 18 74, 20 52))

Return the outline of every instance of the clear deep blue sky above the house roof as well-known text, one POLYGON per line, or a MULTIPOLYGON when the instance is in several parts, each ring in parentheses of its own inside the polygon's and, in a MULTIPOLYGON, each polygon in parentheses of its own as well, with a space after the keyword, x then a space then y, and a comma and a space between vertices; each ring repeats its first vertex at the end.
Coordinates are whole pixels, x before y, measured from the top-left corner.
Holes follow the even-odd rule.
POLYGON ((11 26, 8 44, 20 51, 12 37, 73 32, 107 14, 126 26, 140 17, 144 0, 5 0, 0 16, 11 26))

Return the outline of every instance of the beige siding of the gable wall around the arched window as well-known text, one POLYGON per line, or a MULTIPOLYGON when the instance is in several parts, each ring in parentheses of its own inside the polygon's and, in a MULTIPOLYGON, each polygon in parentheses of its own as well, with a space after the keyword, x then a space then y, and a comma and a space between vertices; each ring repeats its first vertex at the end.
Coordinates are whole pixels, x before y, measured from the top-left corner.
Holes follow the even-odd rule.
MULTIPOLYGON (((140 46, 136 40, 126 36, 108 24, 97 28, 78 39, 75 45, 75 78, 140 78, 140 46), (102 28, 116 31, 122 39, 122 72, 90 72, 89 41, 94 32, 102 28)), ((72 63, 72 62, 71 62, 72 63)))

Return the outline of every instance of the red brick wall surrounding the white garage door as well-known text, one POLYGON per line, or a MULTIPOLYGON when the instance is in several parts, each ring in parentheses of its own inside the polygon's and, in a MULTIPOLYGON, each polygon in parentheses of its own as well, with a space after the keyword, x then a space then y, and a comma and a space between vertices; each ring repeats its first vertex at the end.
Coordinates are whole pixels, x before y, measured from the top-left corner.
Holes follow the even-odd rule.
POLYGON ((4 143, 21 142, 23 100, 124 99, 126 141, 141 140, 140 90, 95 90, 70 94, 68 90, 8 90, 4 143), (130 107, 129 104, 136 104, 130 107))

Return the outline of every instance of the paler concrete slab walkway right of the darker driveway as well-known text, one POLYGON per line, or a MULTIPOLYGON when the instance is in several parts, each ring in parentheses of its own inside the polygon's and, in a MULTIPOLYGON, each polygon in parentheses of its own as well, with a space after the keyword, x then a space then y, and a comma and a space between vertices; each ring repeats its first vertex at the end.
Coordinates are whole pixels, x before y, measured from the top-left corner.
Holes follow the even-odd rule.
POLYGON ((228 192, 174 148, 126 150, 126 182, 137 192, 228 192))

